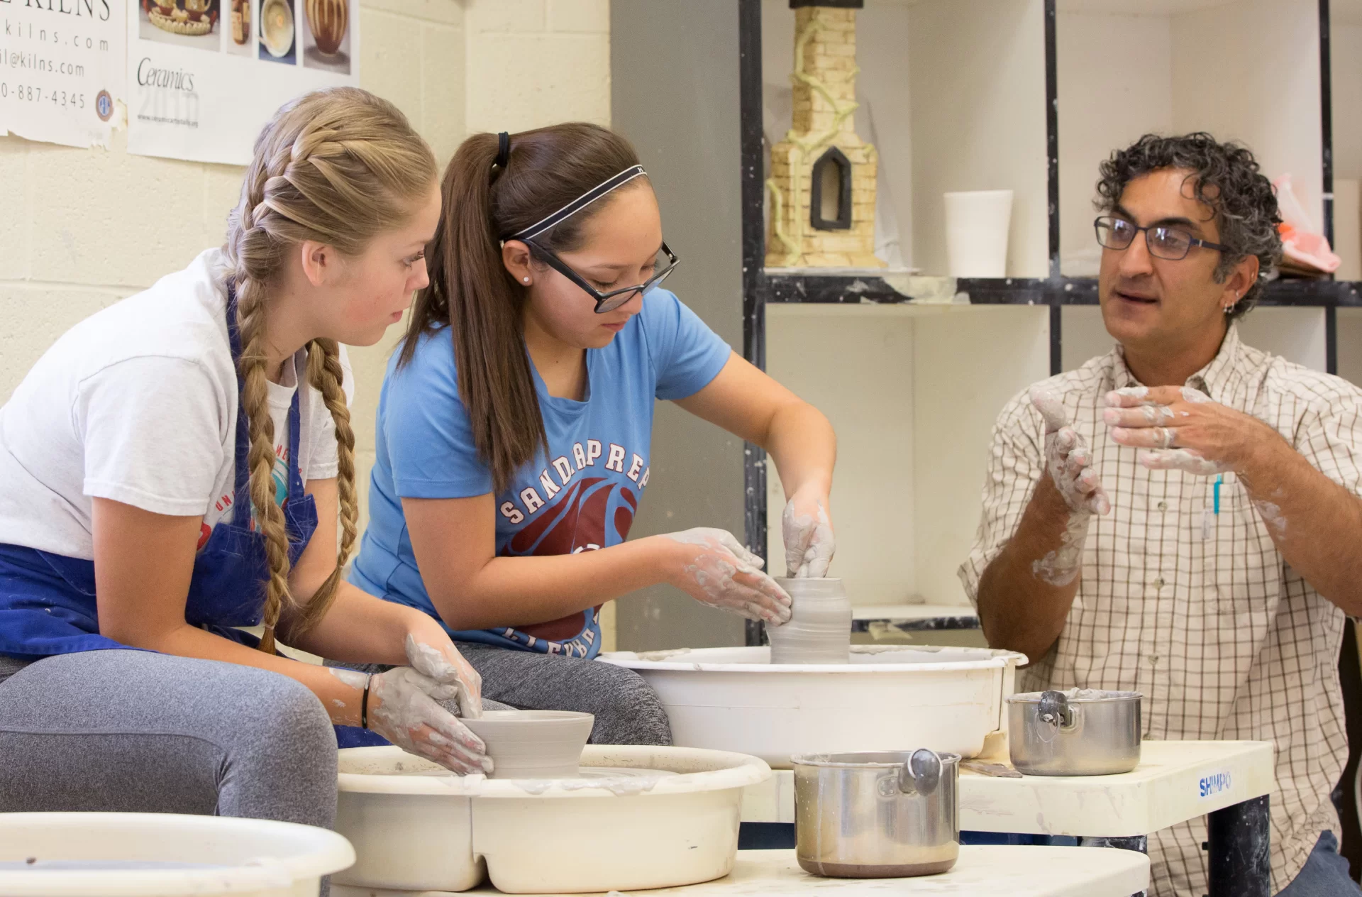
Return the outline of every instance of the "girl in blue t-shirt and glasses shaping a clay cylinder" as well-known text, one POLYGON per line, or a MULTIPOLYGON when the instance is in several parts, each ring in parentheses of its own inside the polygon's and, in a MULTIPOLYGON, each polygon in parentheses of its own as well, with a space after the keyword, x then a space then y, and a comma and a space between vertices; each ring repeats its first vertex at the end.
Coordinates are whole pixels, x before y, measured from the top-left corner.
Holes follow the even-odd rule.
POLYGON ((587 663, 601 604, 666 582, 782 623, 790 598, 725 530, 625 543, 654 401, 771 453, 790 575, 825 575, 832 558, 832 427, 661 289, 677 256, 624 138, 481 134, 443 189, 430 285, 383 384, 351 579, 439 618, 488 698, 595 713, 595 743, 667 744, 643 680, 587 663))

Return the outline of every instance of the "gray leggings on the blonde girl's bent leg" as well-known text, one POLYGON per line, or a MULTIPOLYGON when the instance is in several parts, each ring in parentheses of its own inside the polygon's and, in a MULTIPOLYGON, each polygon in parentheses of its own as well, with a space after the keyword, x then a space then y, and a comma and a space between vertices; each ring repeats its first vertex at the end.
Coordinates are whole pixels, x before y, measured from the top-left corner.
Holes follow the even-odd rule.
POLYGON ((136 650, 0 657, 0 812, 188 812, 330 829, 335 748, 316 695, 266 669, 136 650))

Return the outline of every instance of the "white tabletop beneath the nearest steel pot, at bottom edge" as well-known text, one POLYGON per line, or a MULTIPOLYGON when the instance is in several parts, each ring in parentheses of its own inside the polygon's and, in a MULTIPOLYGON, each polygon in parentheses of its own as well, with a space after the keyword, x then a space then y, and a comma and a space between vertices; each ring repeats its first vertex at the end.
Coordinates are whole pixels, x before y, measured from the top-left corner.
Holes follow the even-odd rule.
MULTIPOLYGON (((1007 897, 1130 897, 1150 883, 1150 857, 1133 851, 1077 847, 962 847, 949 872, 921 878, 819 878, 799 868, 794 851, 738 851, 725 878, 628 897, 745 897, 748 894, 956 894, 1007 897)), ((500 893, 490 885, 464 892, 500 893)), ((612 892, 618 893, 618 892, 612 892)))

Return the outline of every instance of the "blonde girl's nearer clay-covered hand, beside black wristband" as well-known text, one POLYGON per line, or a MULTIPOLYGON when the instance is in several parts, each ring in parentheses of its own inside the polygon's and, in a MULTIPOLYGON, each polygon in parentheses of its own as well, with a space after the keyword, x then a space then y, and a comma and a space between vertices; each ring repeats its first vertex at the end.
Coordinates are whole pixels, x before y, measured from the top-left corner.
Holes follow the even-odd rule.
POLYGON ((492 759, 477 735, 440 701, 462 686, 436 682, 411 667, 394 667, 369 680, 369 728, 402 750, 460 774, 490 773, 492 759))

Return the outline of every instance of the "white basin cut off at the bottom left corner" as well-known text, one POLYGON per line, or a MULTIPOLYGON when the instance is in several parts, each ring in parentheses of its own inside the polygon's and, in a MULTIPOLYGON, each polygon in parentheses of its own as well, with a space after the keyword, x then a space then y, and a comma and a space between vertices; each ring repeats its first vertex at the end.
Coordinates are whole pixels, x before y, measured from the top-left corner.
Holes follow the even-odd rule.
POLYGON ((353 862, 354 849, 335 832, 291 822, 0 812, 5 897, 316 897, 323 875, 353 862))

